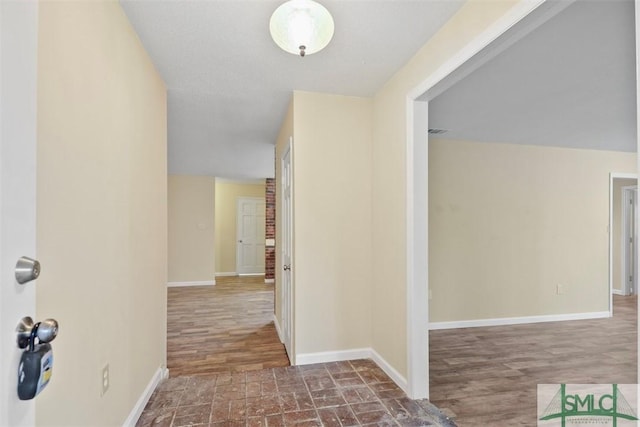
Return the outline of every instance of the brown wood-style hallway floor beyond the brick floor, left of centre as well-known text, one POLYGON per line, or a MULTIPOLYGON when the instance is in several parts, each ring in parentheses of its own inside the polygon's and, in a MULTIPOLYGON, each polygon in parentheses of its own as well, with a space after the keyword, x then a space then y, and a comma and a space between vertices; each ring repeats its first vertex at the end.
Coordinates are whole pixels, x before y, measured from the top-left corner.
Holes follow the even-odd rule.
POLYGON ((219 277, 215 286, 168 289, 171 377, 289 366, 264 277, 219 277))

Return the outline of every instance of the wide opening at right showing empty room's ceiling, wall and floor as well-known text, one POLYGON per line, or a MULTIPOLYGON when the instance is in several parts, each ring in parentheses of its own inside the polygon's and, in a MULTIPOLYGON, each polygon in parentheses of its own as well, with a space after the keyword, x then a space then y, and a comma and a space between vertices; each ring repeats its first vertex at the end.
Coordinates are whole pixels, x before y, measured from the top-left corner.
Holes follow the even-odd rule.
POLYGON ((422 98, 429 397, 461 425, 535 423, 538 383, 637 381, 637 297, 609 318, 607 280, 607 178, 637 170, 634 4, 549 4, 422 98))

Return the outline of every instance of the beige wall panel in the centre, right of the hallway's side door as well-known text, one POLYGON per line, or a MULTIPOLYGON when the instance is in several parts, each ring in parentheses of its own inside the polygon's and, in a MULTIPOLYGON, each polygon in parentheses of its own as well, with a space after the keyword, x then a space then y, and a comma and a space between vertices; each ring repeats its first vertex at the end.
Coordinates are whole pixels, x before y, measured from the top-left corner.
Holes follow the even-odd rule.
POLYGON ((295 92, 292 126, 296 356, 369 347, 371 100, 295 92))

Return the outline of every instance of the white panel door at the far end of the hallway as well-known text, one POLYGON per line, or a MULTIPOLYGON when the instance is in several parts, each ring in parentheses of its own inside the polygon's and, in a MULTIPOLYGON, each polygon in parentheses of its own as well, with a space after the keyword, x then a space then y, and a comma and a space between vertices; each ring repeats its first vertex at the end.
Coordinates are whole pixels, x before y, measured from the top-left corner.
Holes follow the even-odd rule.
POLYGON ((239 197, 236 209, 236 272, 264 274, 264 197, 239 197))

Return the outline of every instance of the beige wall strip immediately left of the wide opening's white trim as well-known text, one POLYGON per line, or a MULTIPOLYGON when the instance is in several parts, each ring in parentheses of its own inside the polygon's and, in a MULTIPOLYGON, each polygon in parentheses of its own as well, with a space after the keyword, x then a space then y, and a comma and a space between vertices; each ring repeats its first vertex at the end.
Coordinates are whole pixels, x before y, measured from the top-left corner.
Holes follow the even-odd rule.
POLYGON ((373 101, 372 347, 407 374, 406 99, 410 91, 524 0, 472 0, 375 95, 373 101))

